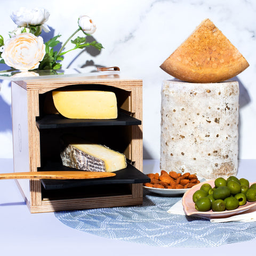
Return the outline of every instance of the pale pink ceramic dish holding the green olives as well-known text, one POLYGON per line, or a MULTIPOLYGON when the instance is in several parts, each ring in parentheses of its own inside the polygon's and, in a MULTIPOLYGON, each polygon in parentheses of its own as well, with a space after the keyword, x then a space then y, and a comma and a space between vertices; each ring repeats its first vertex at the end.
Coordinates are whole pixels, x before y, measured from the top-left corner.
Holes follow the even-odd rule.
MULTIPOLYGON (((207 211, 207 212, 199 212, 195 209, 195 203, 193 202, 193 194, 195 193, 196 190, 200 189, 201 186, 204 183, 209 183, 212 187, 214 187, 214 180, 207 180, 205 182, 199 183, 196 186, 190 188, 182 197, 182 205, 184 208, 184 211, 186 215, 197 215, 200 217, 204 218, 227 218, 230 216, 233 216, 235 214, 247 211, 251 209, 253 206, 256 206, 256 202, 247 202, 245 205, 239 206, 235 210, 226 210, 223 212, 213 212, 212 210, 207 211)), ((250 183, 251 185, 252 183, 250 183)))

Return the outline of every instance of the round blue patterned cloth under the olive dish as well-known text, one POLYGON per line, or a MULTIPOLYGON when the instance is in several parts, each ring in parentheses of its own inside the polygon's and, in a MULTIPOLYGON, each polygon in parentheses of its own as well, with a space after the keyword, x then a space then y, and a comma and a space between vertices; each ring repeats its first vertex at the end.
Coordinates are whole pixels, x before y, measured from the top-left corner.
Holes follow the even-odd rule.
POLYGON ((256 222, 212 223, 167 213, 179 200, 145 191, 143 205, 62 211, 55 217, 93 235, 163 247, 212 247, 256 237, 256 222))

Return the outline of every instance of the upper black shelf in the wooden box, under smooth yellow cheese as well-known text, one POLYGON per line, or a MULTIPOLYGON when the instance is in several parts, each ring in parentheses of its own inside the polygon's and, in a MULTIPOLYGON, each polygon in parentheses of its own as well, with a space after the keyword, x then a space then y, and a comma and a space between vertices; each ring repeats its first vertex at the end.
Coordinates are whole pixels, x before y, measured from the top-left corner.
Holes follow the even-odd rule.
POLYGON ((60 114, 36 118, 36 126, 39 130, 109 125, 141 125, 141 121, 123 111, 118 111, 116 119, 69 119, 60 114))

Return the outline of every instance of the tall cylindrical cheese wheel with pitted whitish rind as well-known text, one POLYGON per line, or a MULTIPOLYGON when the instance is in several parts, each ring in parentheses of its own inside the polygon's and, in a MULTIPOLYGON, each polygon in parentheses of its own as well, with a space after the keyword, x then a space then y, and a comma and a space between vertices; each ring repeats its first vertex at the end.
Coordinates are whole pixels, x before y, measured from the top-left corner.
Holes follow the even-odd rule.
POLYGON ((238 98, 238 82, 164 81, 161 170, 206 179, 236 175, 238 98))

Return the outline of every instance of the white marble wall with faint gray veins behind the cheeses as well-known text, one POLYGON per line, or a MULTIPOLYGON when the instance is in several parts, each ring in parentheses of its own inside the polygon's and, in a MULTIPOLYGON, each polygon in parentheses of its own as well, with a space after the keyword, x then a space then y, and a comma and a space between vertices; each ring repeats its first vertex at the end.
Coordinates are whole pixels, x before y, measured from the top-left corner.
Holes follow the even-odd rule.
MULTIPOLYGON (((161 86, 172 77, 159 65, 209 18, 250 63, 236 79, 240 85, 239 158, 256 158, 256 1, 253 0, 1 0, 0 34, 7 39, 15 29, 10 14, 25 7, 44 7, 51 28, 45 40, 61 35, 65 41, 77 29, 79 15, 89 15, 97 25, 93 37, 105 47, 65 55, 63 68, 118 66, 122 74, 143 79, 144 158, 159 158, 161 86)), ((82 35, 81 35, 82 36, 82 35)), ((67 45, 67 48, 69 46, 67 45)), ((0 70, 7 67, 0 64, 0 70)), ((0 91, 0 158, 12 157, 11 89, 0 91)))

